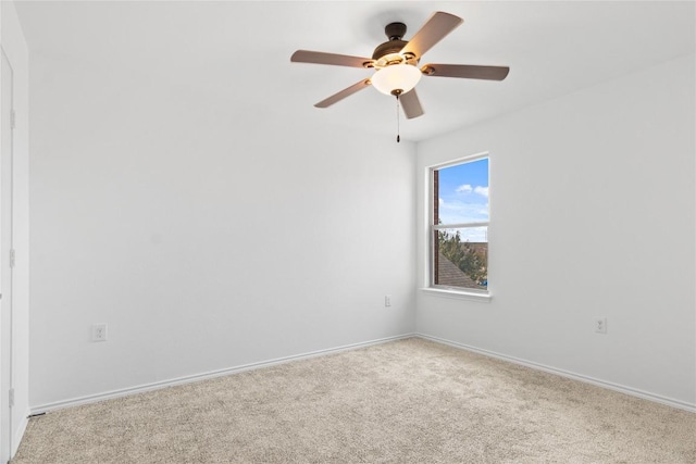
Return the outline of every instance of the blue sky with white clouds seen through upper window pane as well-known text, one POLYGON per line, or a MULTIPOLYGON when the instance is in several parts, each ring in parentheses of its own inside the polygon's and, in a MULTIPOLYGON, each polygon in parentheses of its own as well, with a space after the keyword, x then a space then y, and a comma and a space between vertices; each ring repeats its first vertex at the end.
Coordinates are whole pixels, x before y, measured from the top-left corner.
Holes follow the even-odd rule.
POLYGON ((443 224, 488 221, 488 159, 439 170, 443 224))

